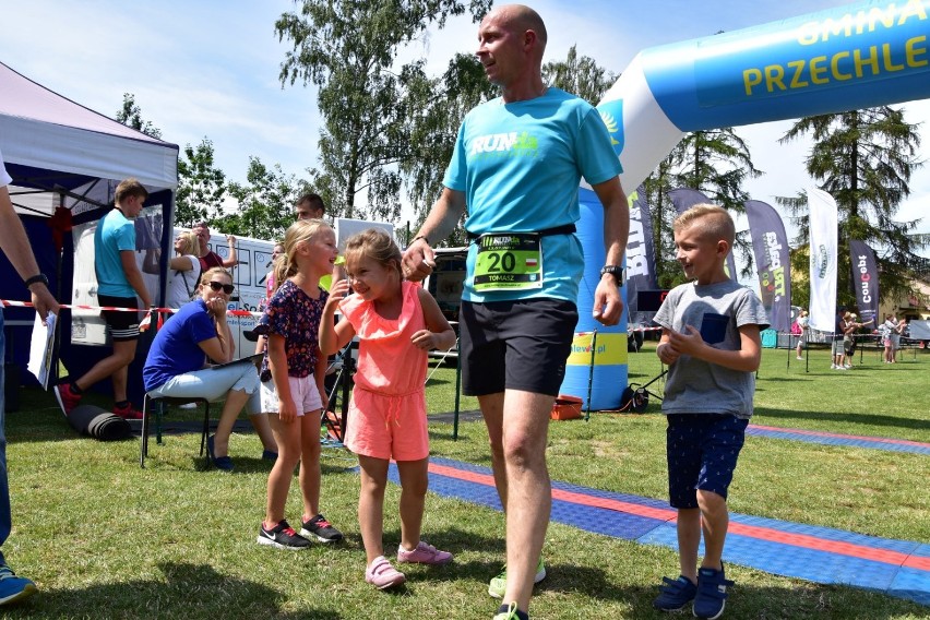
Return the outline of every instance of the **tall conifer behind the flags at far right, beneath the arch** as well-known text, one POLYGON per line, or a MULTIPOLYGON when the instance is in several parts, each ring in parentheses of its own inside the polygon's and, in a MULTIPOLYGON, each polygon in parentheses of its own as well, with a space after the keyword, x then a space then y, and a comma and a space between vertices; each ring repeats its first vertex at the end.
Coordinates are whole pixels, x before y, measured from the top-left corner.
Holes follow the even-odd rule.
MULTIPOLYGON (((926 260, 916 252, 930 243, 930 235, 915 234, 917 222, 896 222, 894 216, 901 202, 910 194, 910 175, 922 166, 917 158, 920 146, 917 126, 904 120, 903 110, 882 106, 803 118, 780 142, 804 134, 814 141, 806 162, 807 170, 836 201, 839 303, 855 305, 856 299, 850 239, 860 239, 875 250, 882 298, 910 293, 910 281, 926 265, 926 260)), ((779 198, 778 202, 795 216, 796 242, 808 246, 807 198, 779 198)), ((803 259, 800 255, 798 261, 803 259)), ((806 262, 802 269, 807 269, 806 262)))

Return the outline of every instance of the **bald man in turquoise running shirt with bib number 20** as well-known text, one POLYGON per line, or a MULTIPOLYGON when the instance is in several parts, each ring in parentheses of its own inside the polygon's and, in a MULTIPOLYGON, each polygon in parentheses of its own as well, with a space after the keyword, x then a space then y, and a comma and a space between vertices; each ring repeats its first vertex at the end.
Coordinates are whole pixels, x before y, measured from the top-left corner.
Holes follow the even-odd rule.
POLYGON ((463 391, 478 397, 506 518, 506 564, 488 586, 503 603, 496 620, 526 620, 533 584, 546 576, 546 445, 577 323, 581 178, 604 205, 606 264, 593 314, 616 325, 623 310, 630 214, 620 162, 598 111, 542 81, 546 41, 546 25, 528 7, 496 7, 481 21, 476 55, 501 97, 466 115, 442 194, 404 255, 405 275, 424 279, 436 265, 430 242, 448 237, 467 212, 463 391), (508 262, 514 249, 526 259, 518 265, 508 262), (501 263, 503 273, 494 271, 501 263))

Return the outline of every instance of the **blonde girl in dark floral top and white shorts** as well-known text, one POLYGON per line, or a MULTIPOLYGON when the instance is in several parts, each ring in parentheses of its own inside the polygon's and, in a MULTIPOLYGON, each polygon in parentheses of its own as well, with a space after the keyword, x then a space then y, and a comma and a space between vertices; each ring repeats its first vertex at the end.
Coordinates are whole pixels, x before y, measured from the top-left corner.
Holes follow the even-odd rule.
POLYGON ((259 544, 305 549, 308 538, 336 542, 342 533, 320 513, 320 413, 324 406, 326 358, 317 334, 327 294, 320 276, 333 271, 336 236, 320 219, 294 223, 284 237, 284 255, 275 263, 277 290, 255 331, 267 337, 262 361, 262 410, 269 413, 278 457, 269 474, 265 520, 259 544), (300 534, 284 518, 294 467, 300 462, 303 515, 300 534))

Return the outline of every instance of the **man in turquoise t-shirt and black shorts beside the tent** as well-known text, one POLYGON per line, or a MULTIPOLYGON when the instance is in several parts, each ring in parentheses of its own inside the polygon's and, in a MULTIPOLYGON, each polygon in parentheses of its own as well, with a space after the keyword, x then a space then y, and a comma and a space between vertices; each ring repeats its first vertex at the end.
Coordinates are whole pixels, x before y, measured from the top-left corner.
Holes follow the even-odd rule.
MULTIPOLYGON (((148 190, 136 179, 126 179, 117 186, 115 205, 94 234, 94 270, 97 273, 97 299, 103 307, 142 308, 152 306, 142 272, 135 263, 135 224, 142 213, 148 190)), ((114 414, 127 419, 141 419, 127 398, 129 365, 135 359, 139 343, 139 313, 121 310, 100 312, 112 337, 112 353, 78 379, 55 386, 55 395, 64 415, 81 403, 84 390, 106 378, 112 380, 114 414)))

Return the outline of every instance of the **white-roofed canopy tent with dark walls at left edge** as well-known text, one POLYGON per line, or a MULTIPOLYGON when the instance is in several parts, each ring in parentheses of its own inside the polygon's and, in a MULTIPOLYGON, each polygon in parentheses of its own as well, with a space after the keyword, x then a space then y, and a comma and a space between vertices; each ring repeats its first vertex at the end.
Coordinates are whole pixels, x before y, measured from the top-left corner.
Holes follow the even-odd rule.
MULTIPOLYGON (((95 112, 0 63, 0 152, 13 177, 9 188, 13 203, 39 267, 51 279, 52 293, 60 301, 72 302, 75 288, 74 240, 68 231, 74 225, 76 234, 80 225, 103 217, 112 204, 116 184, 122 179, 139 179, 150 192, 147 204, 160 205, 155 210, 164 226, 158 226, 160 230, 152 243, 162 248, 163 257, 170 255, 178 186, 176 144, 95 112)), ((165 262, 157 276, 162 283, 165 262)), ((13 275, 9 261, 0 258, 0 299, 28 299, 28 291, 13 275)), ((31 331, 26 325, 32 322, 32 310, 8 308, 4 314, 8 358, 25 366, 28 349, 25 338, 31 331)), ((95 361, 96 351, 86 347, 80 353, 71 350, 65 331, 71 327, 70 320, 70 313, 62 315, 60 355, 71 372, 82 372, 85 370, 82 367, 95 361)), ((144 359, 146 349, 147 346, 140 347, 136 361, 140 357, 144 359)), ((130 393, 138 395, 141 381, 138 386, 132 383, 130 393)))

